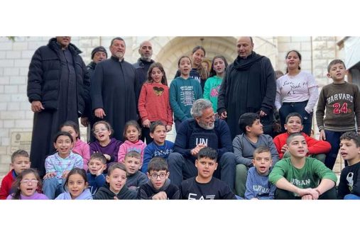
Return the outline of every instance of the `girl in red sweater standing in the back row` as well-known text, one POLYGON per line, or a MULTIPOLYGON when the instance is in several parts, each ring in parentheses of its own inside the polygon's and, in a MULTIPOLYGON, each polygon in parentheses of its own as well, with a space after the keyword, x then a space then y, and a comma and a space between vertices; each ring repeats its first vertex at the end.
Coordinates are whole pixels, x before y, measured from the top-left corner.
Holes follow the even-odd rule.
POLYGON ((143 137, 146 144, 153 142, 150 137, 150 124, 161 120, 169 132, 173 125, 173 110, 169 102, 169 87, 163 65, 151 64, 148 69, 148 82, 143 84, 138 99, 138 112, 143 125, 143 137))

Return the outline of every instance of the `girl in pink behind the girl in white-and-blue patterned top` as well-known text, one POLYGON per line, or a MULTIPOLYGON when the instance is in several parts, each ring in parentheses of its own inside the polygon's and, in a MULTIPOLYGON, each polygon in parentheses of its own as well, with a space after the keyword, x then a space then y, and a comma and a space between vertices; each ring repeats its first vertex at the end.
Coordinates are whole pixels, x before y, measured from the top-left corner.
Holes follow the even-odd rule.
POLYGON ((84 162, 83 168, 84 170, 87 170, 87 162, 89 162, 90 159, 90 148, 86 142, 80 140, 79 125, 77 125, 77 123, 72 120, 67 120, 60 126, 60 131, 70 133, 70 135, 72 136, 72 140, 74 140, 75 143, 74 148, 72 148, 72 152, 75 152, 82 156, 82 161, 84 162))

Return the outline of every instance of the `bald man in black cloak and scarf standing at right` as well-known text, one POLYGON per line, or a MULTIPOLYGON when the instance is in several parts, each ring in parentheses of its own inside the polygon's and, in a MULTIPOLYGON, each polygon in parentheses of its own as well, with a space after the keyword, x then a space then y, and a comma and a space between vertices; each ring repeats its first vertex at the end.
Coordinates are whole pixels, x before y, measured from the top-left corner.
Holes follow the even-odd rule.
POLYGON ((217 112, 227 119, 231 138, 241 134, 238 122, 244 113, 258 113, 264 133, 273 130, 276 96, 275 72, 268 57, 253 52, 253 39, 241 37, 236 43, 238 57, 227 67, 220 86, 217 112))

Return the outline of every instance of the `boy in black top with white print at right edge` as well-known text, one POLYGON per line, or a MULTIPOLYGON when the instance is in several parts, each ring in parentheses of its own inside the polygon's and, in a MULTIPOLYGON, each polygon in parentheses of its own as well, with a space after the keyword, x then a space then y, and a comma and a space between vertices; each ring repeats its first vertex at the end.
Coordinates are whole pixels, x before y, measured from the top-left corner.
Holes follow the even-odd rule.
POLYGON ((349 166, 342 169, 337 198, 360 199, 360 137, 347 132, 340 137, 340 154, 349 166))

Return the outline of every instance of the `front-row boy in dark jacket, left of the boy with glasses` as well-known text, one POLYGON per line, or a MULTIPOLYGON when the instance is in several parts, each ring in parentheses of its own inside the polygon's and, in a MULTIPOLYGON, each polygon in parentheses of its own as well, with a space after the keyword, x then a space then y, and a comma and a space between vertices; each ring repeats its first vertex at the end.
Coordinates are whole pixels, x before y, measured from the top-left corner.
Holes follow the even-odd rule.
POLYGON ((107 171, 107 183, 94 196, 97 200, 136 199, 136 192, 126 187, 126 168, 115 162, 107 171))

